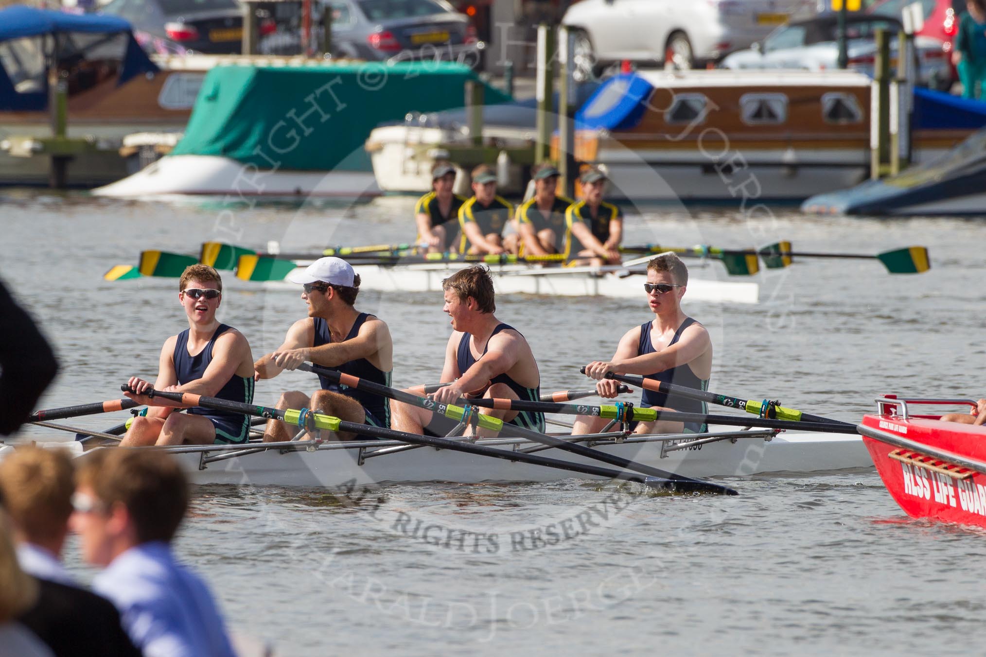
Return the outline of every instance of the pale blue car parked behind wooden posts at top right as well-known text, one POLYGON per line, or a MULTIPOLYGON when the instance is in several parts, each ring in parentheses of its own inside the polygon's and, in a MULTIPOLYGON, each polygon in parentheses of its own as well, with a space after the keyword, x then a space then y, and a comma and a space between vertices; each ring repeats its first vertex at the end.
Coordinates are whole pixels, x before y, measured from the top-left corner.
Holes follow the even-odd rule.
MULTIPOLYGON (((874 74, 877 29, 896 34, 903 30, 900 21, 884 16, 850 14, 846 18, 848 67, 869 76, 874 74)), ((914 38, 917 81, 938 86, 950 79, 947 53, 942 41, 931 36, 914 38)), ((897 39, 890 39, 890 66, 896 66, 897 39)), ((820 71, 838 67, 838 17, 834 13, 817 16, 778 28, 762 42, 748 50, 726 57, 720 64, 731 69, 805 69, 820 71)))

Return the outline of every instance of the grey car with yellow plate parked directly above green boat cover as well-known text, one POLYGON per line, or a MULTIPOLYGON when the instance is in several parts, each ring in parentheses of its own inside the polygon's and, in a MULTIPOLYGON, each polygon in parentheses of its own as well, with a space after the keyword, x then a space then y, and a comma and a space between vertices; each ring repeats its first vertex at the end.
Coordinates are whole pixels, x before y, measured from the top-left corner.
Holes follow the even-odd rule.
POLYGON ((332 54, 368 60, 443 59, 475 65, 484 43, 445 0, 327 0, 332 54))

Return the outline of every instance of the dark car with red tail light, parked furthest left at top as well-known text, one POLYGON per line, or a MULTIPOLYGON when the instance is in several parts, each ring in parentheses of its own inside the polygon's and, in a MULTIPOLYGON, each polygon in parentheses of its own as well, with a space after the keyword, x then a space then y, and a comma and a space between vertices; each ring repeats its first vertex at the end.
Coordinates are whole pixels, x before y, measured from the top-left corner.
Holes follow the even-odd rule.
POLYGON ((129 21, 145 49, 156 43, 154 37, 197 52, 242 49, 243 10, 236 0, 112 0, 101 12, 129 21))

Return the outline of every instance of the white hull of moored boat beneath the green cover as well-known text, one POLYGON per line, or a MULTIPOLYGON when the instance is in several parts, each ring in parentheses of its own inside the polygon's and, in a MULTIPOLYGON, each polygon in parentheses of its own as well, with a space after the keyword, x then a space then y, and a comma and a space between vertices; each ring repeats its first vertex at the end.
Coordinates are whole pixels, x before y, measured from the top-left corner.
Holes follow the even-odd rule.
POLYGON ((257 169, 216 156, 167 156, 105 187, 96 196, 167 199, 174 196, 340 197, 379 196, 371 171, 290 171, 257 169))

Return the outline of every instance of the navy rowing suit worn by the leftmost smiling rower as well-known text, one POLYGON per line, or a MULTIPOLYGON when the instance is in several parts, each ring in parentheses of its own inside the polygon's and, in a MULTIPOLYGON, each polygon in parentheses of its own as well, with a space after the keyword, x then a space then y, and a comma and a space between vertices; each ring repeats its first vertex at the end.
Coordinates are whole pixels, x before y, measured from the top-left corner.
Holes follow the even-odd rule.
MULTIPOLYGON (((212 334, 212 339, 209 340, 209 343, 195 356, 188 353, 188 332, 190 329, 185 329, 181 333, 178 333, 175 351, 172 357, 172 360, 175 362, 178 385, 202 378, 209 363, 212 362, 216 338, 231 328, 233 327, 220 324, 216 332, 212 334)), ((237 376, 234 374, 226 382, 226 385, 220 388, 219 392, 211 396, 218 399, 240 402, 241 404, 252 404, 253 377, 237 376)), ((188 409, 188 413, 190 415, 199 415, 212 421, 212 424, 216 427, 216 442, 246 442, 246 438, 249 436, 249 416, 245 416, 242 413, 216 411, 200 406, 188 409)))

